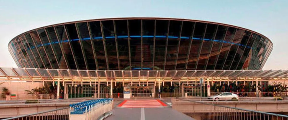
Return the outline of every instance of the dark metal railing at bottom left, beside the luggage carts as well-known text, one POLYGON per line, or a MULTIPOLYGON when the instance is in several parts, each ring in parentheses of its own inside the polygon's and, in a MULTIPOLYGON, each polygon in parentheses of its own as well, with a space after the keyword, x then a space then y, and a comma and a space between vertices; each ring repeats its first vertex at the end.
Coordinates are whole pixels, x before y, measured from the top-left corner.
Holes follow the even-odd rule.
POLYGON ((69 120, 69 107, 22 115, 2 120, 69 120))

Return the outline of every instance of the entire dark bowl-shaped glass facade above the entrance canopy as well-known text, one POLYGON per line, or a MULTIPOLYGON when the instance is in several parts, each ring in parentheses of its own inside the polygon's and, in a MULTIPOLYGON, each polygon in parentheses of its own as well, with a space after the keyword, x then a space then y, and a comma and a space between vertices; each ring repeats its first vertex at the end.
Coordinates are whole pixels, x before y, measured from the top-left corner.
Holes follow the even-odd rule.
POLYGON ((72 70, 260 70, 272 48, 251 30, 167 18, 63 23, 8 45, 18 67, 72 70))

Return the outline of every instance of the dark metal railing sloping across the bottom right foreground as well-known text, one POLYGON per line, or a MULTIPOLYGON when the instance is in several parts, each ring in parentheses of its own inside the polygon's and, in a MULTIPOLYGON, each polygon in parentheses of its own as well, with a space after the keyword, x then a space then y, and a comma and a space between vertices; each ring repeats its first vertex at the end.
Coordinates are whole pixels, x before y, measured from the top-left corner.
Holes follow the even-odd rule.
MULTIPOLYGON (((186 115, 197 120, 287 120, 287 115, 247 110, 218 104, 192 101, 193 108, 186 115)), ((189 108, 188 108, 189 109, 189 108)))

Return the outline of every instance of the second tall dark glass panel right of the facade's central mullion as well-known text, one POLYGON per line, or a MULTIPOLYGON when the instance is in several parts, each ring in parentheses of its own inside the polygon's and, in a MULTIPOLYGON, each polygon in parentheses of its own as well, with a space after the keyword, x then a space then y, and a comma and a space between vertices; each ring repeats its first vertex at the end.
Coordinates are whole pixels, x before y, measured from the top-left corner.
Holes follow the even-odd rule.
POLYGON ((156 20, 154 70, 164 70, 168 20, 156 20))

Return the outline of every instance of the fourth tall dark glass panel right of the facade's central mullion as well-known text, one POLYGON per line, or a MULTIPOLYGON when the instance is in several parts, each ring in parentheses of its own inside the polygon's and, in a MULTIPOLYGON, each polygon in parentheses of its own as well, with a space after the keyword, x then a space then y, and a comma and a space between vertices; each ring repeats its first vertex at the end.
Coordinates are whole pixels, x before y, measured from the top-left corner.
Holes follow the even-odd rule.
POLYGON ((191 37, 193 33, 195 22, 183 21, 180 48, 177 60, 177 70, 186 70, 186 61, 190 47, 191 37))

